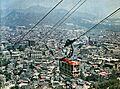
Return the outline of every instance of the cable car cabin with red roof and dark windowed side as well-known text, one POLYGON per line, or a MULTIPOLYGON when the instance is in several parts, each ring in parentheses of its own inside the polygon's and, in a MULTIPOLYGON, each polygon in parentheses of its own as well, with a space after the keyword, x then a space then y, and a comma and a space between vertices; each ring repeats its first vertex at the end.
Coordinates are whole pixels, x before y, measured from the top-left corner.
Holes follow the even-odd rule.
POLYGON ((77 78, 80 76, 80 62, 70 59, 61 59, 59 61, 60 74, 68 77, 77 78))

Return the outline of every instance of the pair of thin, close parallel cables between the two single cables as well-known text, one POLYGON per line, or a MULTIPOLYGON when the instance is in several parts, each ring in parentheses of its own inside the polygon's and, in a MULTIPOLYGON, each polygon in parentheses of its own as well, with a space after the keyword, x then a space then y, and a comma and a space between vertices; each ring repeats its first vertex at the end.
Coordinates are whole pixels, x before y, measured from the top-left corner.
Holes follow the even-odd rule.
POLYGON ((68 13, 66 13, 62 19, 60 19, 52 28, 51 30, 49 30, 44 37, 40 40, 40 41, 44 41, 49 35, 52 34, 53 31, 55 31, 62 23, 64 23, 76 10, 78 10, 87 0, 84 0, 80 5, 79 3, 81 2, 81 0, 75 5, 73 6, 73 8, 70 9, 70 11, 68 11, 68 13), (78 7, 76 7, 77 5, 79 5, 78 7), (75 9, 74 9, 75 8, 75 9), (74 10, 73 10, 74 9, 74 10), (72 11, 73 10, 73 11, 72 11), (72 12, 71 12, 72 11, 72 12), (71 13, 70 13, 71 12, 71 13), (70 14, 69 14, 70 13, 70 14), (69 15, 68 15, 69 14, 69 15), (66 15, 68 15, 66 17, 66 15), (66 18, 65 18, 66 17, 66 18), (65 18, 65 19, 64 19, 65 18), (57 27, 55 27, 57 25, 57 27), (55 27, 55 28, 54 28, 55 27), (50 32, 50 33, 49 33, 50 32), (48 34, 49 33, 49 34, 48 34))

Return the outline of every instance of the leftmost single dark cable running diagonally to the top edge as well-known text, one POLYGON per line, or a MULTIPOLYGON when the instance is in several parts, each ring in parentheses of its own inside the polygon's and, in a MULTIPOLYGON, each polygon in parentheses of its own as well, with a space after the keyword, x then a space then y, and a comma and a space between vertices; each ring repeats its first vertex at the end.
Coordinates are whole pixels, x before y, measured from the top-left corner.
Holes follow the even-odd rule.
POLYGON ((58 2, 45 16, 43 16, 27 33, 25 33, 13 46, 20 43, 24 39, 26 35, 28 35, 39 23, 41 23, 60 3, 62 3, 63 0, 58 2))

